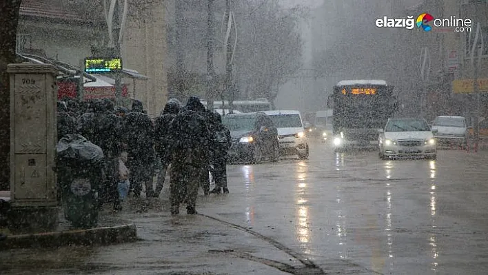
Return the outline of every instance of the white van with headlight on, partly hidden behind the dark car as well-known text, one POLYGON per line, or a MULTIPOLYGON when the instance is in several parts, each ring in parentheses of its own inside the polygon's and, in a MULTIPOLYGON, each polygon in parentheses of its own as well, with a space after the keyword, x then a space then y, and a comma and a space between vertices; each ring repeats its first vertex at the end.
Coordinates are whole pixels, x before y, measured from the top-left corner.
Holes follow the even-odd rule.
POLYGON ((296 155, 308 159, 309 147, 302 116, 299 111, 265 111, 278 128, 281 155, 296 155))

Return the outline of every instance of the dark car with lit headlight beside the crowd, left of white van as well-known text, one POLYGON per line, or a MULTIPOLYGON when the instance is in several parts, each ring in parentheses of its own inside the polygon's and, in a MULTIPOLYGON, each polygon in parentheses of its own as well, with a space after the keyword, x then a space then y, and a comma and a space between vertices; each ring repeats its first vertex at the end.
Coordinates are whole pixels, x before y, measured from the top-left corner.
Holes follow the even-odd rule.
POLYGON ((223 116, 222 123, 229 128, 232 136, 230 161, 261 163, 265 158, 278 161, 278 130, 267 114, 227 114, 223 116))

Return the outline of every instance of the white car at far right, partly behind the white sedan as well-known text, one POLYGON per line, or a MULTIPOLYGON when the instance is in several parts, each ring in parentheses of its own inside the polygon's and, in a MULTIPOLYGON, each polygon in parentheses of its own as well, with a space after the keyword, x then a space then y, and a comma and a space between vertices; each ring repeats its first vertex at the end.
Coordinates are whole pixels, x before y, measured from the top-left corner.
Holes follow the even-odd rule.
POLYGON ((432 130, 437 130, 434 137, 438 144, 466 145, 469 130, 463 116, 437 116, 432 123, 432 130))

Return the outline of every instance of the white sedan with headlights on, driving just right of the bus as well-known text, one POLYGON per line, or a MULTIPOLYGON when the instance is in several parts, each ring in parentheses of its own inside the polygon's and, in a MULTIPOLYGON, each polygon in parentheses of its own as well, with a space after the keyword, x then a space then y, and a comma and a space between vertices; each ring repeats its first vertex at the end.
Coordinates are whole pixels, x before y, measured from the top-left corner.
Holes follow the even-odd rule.
POLYGON ((378 142, 380 159, 401 156, 437 158, 434 133, 425 119, 388 119, 385 130, 380 130, 378 142))

